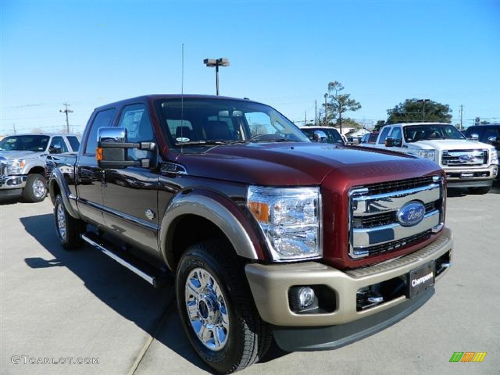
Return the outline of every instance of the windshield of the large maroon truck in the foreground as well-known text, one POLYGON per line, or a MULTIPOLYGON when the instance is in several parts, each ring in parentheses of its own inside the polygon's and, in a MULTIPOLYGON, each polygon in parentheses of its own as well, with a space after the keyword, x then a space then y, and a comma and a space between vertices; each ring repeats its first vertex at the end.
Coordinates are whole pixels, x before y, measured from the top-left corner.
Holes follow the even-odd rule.
POLYGON ((234 99, 174 98, 157 102, 170 146, 246 142, 308 142, 286 117, 260 103, 234 99))

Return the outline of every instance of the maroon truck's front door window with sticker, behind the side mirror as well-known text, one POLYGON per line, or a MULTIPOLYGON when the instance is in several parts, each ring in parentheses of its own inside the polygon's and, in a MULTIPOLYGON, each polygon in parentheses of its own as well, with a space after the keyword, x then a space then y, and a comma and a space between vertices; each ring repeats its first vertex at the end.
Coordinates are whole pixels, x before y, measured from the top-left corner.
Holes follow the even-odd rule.
MULTIPOLYGON (((126 128, 129 142, 154 141, 153 127, 144 104, 125 106, 118 126, 126 128)), ((128 156, 132 159, 147 157, 147 151, 138 149, 129 150, 128 156)))

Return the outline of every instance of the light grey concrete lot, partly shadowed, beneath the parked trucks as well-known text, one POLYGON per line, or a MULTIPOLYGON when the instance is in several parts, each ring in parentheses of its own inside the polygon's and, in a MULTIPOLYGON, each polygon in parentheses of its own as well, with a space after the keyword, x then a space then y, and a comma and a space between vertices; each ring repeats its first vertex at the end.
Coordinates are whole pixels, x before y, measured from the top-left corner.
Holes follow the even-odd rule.
MULTIPOLYGON (((465 191, 448 190, 454 264, 422 308, 340 349, 274 351, 240 373, 499 374, 500 187, 465 191), (487 354, 449 362, 455 351, 487 354)), ((50 199, 3 202, 0 236, 2 374, 209 373, 180 328, 173 287, 155 289, 89 246, 64 251, 50 199)))

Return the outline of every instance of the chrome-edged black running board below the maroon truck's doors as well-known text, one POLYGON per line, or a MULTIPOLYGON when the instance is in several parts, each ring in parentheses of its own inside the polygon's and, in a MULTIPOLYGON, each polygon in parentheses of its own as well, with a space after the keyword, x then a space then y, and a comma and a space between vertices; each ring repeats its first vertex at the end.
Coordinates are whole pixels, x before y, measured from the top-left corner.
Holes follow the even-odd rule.
POLYGON ((130 253, 121 253, 121 251, 112 250, 112 244, 104 247, 103 240, 94 235, 93 233, 83 233, 81 234, 81 239, 85 242, 89 243, 91 246, 100 250, 102 253, 109 256, 111 259, 117 261, 121 265, 125 266, 129 270, 131 270, 136 275, 142 277, 144 280, 149 282, 151 285, 158 287, 161 286, 165 281, 165 272, 162 272, 160 269, 157 269, 138 257, 130 254, 130 253), (118 253, 119 252, 119 253, 118 253))

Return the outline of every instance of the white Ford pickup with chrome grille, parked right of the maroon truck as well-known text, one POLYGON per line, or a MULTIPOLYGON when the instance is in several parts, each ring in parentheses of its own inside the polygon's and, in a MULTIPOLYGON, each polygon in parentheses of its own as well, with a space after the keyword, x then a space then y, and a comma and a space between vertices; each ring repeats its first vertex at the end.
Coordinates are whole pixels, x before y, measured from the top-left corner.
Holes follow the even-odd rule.
POLYGON ((385 125, 375 144, 365 147, 391 149, 434 160, 446 172, 449 187, 467 187, 485 194, 498 173, 498 156, 490 144, 466 139, 449 123, 411 122, 385 125))

